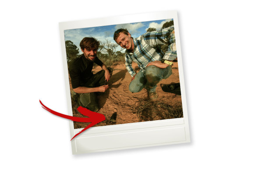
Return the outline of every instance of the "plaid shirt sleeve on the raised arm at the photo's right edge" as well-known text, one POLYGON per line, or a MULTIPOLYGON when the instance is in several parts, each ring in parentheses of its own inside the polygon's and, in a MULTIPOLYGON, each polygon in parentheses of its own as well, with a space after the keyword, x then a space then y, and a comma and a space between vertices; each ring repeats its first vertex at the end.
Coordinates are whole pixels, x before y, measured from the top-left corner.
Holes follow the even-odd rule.
POLYGON ((151 47, 167 44, 168 47, 164 53, 163 59, 174 60, 177 58, 174 26, 159 31, 147 32, 144 35, 144 40, 151 47))

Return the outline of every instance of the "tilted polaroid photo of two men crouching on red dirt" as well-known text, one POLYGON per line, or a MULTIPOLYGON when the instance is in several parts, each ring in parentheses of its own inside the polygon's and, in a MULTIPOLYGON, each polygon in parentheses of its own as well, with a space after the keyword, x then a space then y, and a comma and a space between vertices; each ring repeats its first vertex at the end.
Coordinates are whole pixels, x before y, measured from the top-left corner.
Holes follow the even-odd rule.
MULTIPOLYGON (((177 11, 60 23, 68 115, 106 120, 73 154, 190 142, 177 11)), ((89 123, 70 121, 71 138, 89 123)))

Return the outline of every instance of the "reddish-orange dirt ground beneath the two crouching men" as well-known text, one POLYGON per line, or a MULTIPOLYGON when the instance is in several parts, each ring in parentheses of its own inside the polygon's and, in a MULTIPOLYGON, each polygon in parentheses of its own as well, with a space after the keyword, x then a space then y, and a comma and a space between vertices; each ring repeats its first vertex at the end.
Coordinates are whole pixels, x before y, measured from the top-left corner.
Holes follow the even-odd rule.
MULTIPOLYGON (((138 65, 133 63, 132 66, 138 73, 138 65)), ((100 107, 98 113, 104 114, 106 120, 94 126, 183 117, 181 96, 166 93, 160 87, 161 83, 170 84, 180 82, 178 62, 174 62, 174 65, 172 66, 172 75, 166 80, 161 80, 160 83, 157 84, 156 91, 158 93, 158 98, 156 100, 149 100, 147 98, 146 89, 143 89, 139 93, 131 93, 129 91, 129 83, 131 82, 132 76, 128 73, 123 62, 115 63, 111 68, 113 68, 113 74, 109 83, 111 84, 113 82, 113 84, 110 85, 105 94, 98 96, 100 107), (113 114, 116 115, 116 121, 110 121, 113 114)), ((93 73, 100 70, 100 66, 96 66, 92 69, 93 73)), ((73 116, 85 117, 76 110, 77 108, 78 105, 76 102, 72 101, 73 116)), ((89 123, 74 122, 74 128, 85 128, 87 125, 89 125, 89 123)))

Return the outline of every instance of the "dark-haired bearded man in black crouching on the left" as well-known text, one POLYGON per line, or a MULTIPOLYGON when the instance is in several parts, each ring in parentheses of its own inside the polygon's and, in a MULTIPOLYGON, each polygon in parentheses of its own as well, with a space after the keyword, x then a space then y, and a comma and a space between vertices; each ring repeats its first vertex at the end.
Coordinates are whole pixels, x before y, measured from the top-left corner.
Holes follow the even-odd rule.
POLYGON ((110 80, 112 69, 103 64, 96 56, 100 42, 95 38, 85 37, 80 42, 83 52, 69 67, 69 75, 74 92, 71 97, 78 106, 88 108, 90 111, 99 111, 98 100, 95 92, 105 92, 108 88, 106 81, 110 80), (92 66, 96 63, 102 70, 92 73, 92 66))

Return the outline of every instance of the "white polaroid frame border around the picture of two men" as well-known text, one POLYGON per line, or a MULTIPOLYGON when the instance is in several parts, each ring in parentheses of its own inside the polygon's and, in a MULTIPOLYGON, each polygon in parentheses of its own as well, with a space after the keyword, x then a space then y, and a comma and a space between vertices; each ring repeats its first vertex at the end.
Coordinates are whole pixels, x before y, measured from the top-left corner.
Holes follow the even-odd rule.
MULTIPOLYGON (((114 24, 127 24, 142 21, 156 21, 170 18, 173 18, 174 20, 183 118, 92 127, 71 141, 73 154, 94 153, 190 142, 177 11, 133 14, 59 23, 68 115, 72 116, 73 114, 68 79, 68 65, 66 60, 67 57, 65 50, 64 30, 114 24)), ((69 121, 69 125, 71 138, 83 129, 74 129, 73 121, 69 121)))

